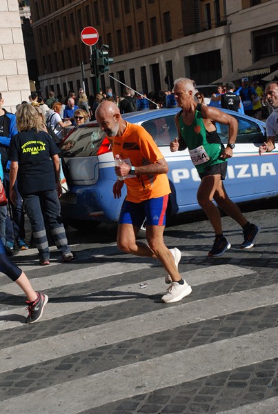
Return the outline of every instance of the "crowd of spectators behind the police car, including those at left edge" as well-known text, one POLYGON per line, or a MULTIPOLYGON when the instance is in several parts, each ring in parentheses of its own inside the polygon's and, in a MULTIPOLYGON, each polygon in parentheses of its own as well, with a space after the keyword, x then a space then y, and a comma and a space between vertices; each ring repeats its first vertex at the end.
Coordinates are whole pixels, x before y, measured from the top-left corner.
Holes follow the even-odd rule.
MULTIPOLYGON (((79 88, 77 95, 74 90, 69 90, 66 98, 61 95, 56 97, 54 91, 50 90, 46 98, 37 92, 32 92, 29 102, 23 101, 17 108, 22 104, 30 104, 36 108, 48 133, 59 145, 65 135, 65 130, 68 133, 70 128, 95 120, 97 106, 102 101, 107 100, 115 103, 123 114, 136 111, 139 108, 139 99, 148 99, 149 109, 166 107, 169 95, 175 101, 175 95, 170 90, 150 91, 146 94, 143 91, 135 92, 132 88, 125 87, 122 90, 122 96, 117 96, 108 86, 104 91, 100 90, 95 97, 87 97, 83 88, 79 88)), ((203 93, 197 88, 195 89, 195 100, 206 105, 203 93)), ((266 119, 272 111, 266 102, 264 87, 259 84, 257 79, 250 82, 247 77, 241 79, 238 88, 233 82, 215 86, 215 93, 210 97, 208 105, 228 108, 257 119, 266 119)), ((10 161, 8 148, 10 140, 17 134, 17 125, 16 115, 8 113, 2 107, 3 98, 0 94, 0 157, 3 167, 3 186, 6 188, 9 198, 10 161)), ((17 192, 17 184, 14 185, 14 190, 17 192)), ((0 227, 1 240, 8 255, 14 255, 18 250, 28 249, 28 244, 25 241, 23 205, 19 193, 17 194, 17 202, 10 204, 10 208, 0 207, 0 227)))

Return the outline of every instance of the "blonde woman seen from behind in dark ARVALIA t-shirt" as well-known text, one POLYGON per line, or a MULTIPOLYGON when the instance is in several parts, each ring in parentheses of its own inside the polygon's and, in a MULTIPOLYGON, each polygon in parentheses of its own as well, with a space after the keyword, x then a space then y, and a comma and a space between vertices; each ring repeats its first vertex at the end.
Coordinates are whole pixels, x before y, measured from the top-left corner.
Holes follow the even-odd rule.
POLYGON ((59 148, 45 132, 39 112, 25 103, 17 110, 18 134, 10 141, 10 199, 16 202, 14 183, 17 179, 26 212, 30 219, 34 242, 39 250, 41 265, 50 264, 50 250, 43 215, 48 220, 54 243, 63 262, 75 258, 71 253, 63 227, 59 203, 62 194, 60 182, 59 148))

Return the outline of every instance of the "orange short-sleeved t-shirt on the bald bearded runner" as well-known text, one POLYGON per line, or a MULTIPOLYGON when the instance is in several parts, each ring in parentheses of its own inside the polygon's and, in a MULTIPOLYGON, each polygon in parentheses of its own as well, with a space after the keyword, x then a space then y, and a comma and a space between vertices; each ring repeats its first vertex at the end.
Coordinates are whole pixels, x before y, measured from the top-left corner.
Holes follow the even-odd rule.
MULTIPOLYGON (((109 140, 112 141, 114 158, 119 154, 121 160, 130 166, 146 166, 163 158, 157 144, 142 126, 127 122, 123 135, 109 140)), ((171 193, 166 174, 134 175, 132 178, 126 178, 125 183, 128 190, 126 199, 133 203, 171 193)))

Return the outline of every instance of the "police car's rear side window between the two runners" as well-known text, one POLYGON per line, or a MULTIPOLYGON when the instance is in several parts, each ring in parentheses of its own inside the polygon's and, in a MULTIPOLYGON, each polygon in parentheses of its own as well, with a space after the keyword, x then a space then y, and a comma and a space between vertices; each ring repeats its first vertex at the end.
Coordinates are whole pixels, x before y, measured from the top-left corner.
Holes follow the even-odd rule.
POLYGON ((169 146, 170 141, 177 137, 175 115, 157 117, 143 122, 141 126, 152 135, 157 146, 169 146))

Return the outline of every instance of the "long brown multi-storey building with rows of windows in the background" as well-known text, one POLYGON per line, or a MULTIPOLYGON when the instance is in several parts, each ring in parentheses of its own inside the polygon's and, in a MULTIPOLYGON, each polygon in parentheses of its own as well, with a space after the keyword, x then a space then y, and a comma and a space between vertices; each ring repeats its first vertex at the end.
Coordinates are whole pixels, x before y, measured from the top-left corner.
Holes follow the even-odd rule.
POLYGON ((278 63, 278 0, 29 3, 39 81, 45 95, 54 90, 66 96, 69 89, 77 90, 82 83, 87 95, 95 94, 90 47, 81 41, 81 30, 86 26, 98 30, 97 48, 102 44, 110 47, 114 63, 110 72, 101 75, 101 86, 112 86, 117 95, 123 84, 143 92, 166 90, 177 77, 190 77, 197 84, 224 77, 237 80, 243 70, 256 76, 259 70, 270 72, 278 63), (261 59, 264 68, 250 68, 261 59))

